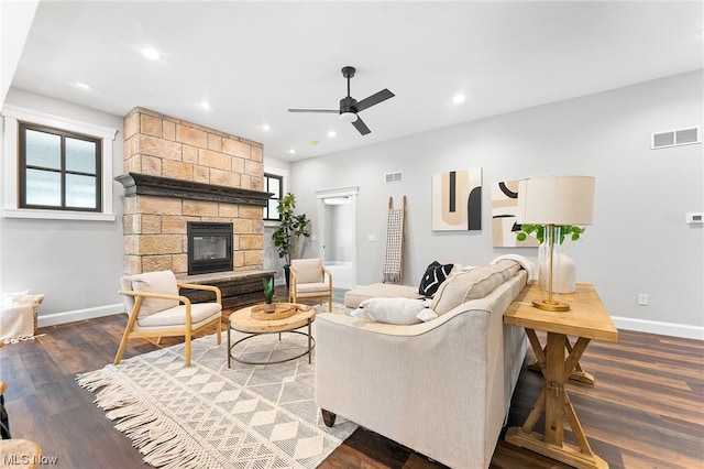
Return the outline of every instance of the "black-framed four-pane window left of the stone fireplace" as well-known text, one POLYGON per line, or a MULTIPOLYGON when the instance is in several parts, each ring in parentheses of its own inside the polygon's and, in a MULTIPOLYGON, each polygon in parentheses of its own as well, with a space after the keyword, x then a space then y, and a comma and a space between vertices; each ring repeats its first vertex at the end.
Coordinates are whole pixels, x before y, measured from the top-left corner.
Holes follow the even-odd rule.
POLYGON ((20 208, 100 211, 101 139, 20 123, 20 208))

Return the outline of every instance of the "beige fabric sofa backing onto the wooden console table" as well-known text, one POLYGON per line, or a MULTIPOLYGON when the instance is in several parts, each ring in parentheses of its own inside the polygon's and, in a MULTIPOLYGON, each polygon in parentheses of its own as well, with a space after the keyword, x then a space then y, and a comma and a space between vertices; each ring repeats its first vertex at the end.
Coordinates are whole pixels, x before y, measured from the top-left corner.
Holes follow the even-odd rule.
POLYGON ((524 330, 502 316, 528 275, 513 261, 464 274, 440 286, 426 323, 317 316, 326 423, 337 415, 450 467, 488 467, 526 352, 524 330))

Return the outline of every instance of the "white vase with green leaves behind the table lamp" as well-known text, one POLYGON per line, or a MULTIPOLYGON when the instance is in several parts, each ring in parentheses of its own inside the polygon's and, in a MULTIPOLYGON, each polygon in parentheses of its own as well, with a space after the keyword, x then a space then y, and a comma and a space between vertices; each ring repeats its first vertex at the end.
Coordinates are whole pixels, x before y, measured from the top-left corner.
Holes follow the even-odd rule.
MULTIPOLYGON (((584 227, 573 225, 556 226, 557 244, 562 244, 565 238, 576 241, 584 233, 584 227)), ((543 225, 521 225, 520 231, 516 233, 516 239, 525 241, 535 233, 540 247, 538 248, 538 281, 543 291, 548 290, 548 269, 550 261, 546 259, 546 227, 543 225)), ((553 270, 557 270, 557 282, 553 282, 553 293, 573 293, 576 291, 576 264, 572 258, 564 253, 558 253, 552 261, 553 270)))

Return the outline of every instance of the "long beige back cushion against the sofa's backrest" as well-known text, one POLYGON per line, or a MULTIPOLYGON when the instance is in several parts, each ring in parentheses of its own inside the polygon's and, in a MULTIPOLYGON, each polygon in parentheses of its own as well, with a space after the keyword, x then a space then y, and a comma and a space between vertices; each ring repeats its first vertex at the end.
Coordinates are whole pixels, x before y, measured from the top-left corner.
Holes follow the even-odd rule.
POLYGON ((436 293, 430 309, 443 315, 470 299, 483 298, 518 272, 515 261, 499 261, 451 275, 436 293))

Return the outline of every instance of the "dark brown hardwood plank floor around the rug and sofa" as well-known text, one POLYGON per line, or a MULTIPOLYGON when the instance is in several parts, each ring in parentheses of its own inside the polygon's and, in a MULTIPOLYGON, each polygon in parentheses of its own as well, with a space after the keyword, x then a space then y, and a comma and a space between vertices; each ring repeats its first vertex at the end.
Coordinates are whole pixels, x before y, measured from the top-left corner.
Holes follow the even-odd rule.
MULTIPOLYGON (((130 440, 92 403, 94 395, 75 381, 76 373, 112 361, 125 323, 127 316, 116 315, 47 327, 36 340, 0 348, 0 379, 9 384, 6 406, 14 437, 37 441, 61 468, 144 467, 130 440)), ((178 341, 165 338, 157 346, 132 340, 124 357, 178 341)), ((444 362, 462 364, 457 357, 444 362)), ((704 342, 622 330, 618 343, 592 342, 581 363, 596 384, 571 382, 568 391, 592 448, 612 469, 704 468, 704 342)), ((522 423, 540 386, 538 373, 521 371, 509 425, 522 423)), ((360 428, 320 467, 441 466, 360 428)), ((565 467, 503 440, 491 465, 565 467)))

